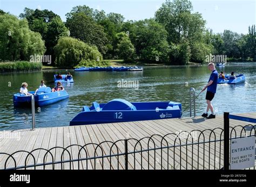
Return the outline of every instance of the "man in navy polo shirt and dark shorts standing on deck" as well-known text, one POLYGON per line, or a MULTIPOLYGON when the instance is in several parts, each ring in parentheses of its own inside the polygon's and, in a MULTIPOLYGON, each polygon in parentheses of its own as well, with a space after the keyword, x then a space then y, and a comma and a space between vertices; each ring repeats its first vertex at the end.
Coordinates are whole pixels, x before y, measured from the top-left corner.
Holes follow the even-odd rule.
POLYGON ((205 89, 207 88, 207 92, 206 92, 206 103, 207 103, 207 109, 206 112, 202 114, 203 117, 206 117, 208 119, 212 119, 215 118, 215 113, 213 110, 213 106, 211 104, 211 100, 213 99, 215 93, 216 93, 216 89, 217 89, 217 82, 218 82, 218 71, 215 69, 214 63, 209 63, 208 64, 208 69, 212 71, 212 74, 209 78, 208 84, 205 86, 205 88, 201 91, 205 91, 205 89), (211 110, 211 114, 210 116, 208 116, 208 111, 209 109, 211 110), (208 116, 208 117, 207 117, 208 116))

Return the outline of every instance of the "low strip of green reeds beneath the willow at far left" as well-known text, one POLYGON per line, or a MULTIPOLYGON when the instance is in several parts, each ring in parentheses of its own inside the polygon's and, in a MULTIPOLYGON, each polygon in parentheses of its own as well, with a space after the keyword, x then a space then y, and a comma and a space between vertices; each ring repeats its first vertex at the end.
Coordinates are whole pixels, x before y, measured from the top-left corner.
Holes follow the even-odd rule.
POLYGON ((18 72, 18 71, 35 71, 41 70, 41 62, 15 61, 15 62, 0 62, 0 72, 18 72))

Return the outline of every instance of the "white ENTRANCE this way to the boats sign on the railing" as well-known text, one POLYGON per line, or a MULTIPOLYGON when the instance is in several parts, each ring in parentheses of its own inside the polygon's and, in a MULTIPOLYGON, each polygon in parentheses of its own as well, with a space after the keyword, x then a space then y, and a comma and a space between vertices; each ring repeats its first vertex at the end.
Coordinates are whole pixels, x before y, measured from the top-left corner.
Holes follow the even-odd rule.
POLYGON ((231 140, 230 169, 254 167, 255 138, 254 136, 231 140))

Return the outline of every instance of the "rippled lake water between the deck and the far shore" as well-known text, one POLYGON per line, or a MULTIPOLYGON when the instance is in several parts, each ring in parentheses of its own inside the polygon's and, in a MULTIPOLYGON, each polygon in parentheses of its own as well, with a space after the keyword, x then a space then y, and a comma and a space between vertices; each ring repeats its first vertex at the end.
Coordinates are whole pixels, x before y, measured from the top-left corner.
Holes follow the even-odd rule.
MULTIPOLYGON (((212 100, 217 114, 256 111, 256 63, 230 63, 220 72, 235 71, 245 74, 246 81, 238 85, 218 85, 212 100)), ((14 108, 12 96, 19 91, 22 82, 35 90, 41 80, 54 87, 53 74, 65 70, 43 70, 33 73, 0 74, 0 130, 31 128, 31 109, 14 108)), ((62 102, 36 109, 36 127, 68 126, 69 121, 82 111, 84 105, 94 101, 105 103, 114 98, 130 102, 166 101, 180 102, 183 110, 189 104, 189 90, 196 95, 207 84, 210 71, 207 66, 144 67, 143 72, 74 72, 75 83, 66 85, 70 98, 62 102), (135 81, 137 88, 119 88, 118 81, 135 81)), ((197 116, 206 109, 205 92, 196 99, 197 116)), ((189 107, 183 117, 189 116, 189 107)))

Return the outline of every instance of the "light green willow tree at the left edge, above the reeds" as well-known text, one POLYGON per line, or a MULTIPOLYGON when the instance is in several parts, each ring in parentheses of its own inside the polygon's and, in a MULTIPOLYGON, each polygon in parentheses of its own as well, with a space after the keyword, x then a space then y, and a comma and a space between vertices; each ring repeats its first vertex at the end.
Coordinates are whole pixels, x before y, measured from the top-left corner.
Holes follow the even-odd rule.
POLYGON ((43 55, 44 41, 39 33, 29 30, 26 19, 0 15, 1 61, 30 60, 30 55, 43 55))

